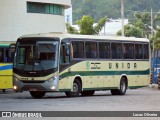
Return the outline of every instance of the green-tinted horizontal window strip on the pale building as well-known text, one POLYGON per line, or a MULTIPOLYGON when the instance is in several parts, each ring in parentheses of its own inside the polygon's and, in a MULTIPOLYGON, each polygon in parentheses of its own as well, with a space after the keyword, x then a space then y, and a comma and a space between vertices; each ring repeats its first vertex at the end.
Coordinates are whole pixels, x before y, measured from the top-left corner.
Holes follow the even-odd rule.
POLYGON ((63 15, 63 6, 49 3, 27 2, 27 13, 63 15))

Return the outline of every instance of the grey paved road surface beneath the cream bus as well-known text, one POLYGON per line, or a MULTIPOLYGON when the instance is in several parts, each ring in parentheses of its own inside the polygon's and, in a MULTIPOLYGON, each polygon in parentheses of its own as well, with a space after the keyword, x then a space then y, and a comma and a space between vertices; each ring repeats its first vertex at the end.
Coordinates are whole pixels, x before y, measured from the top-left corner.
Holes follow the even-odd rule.
POLYGON ((0 91, 0 111, 160 111, 159 104, 160 90, 150 87, 127 90, 125 96, 97 91, 94 96, 76 98, 68 98, 64 93, 47 93, 43 99, 33 99, 29 92, 0 91))

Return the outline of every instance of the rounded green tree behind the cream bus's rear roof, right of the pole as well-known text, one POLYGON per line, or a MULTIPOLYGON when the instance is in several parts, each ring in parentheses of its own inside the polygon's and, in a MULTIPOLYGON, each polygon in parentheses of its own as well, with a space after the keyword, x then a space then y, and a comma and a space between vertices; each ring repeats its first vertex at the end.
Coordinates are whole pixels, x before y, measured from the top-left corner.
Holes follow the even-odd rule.
MULTIPOLYGON (((121 35, 121 30, 117 32, 117 35, 121 35)), ((142 30, 132 25, 126 25, 124 27, 124 35, 126 37, 138 37, 138 38, 143 37, 142 30)))

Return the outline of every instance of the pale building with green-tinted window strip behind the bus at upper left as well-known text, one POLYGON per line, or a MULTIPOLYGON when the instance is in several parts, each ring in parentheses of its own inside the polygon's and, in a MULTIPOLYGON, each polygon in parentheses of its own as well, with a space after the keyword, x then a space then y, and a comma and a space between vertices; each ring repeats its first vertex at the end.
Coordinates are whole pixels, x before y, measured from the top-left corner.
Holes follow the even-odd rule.
POLYGON ((0 41, 24 34, 65 32, 71 0, 0 0, 0 41))

